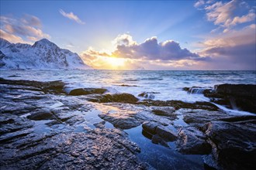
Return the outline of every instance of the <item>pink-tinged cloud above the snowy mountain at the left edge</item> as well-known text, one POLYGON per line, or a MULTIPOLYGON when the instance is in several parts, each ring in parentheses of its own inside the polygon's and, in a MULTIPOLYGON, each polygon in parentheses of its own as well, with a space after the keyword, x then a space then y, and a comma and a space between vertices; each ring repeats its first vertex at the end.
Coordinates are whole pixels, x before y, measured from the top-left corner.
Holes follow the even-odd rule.
POLYGON ((34 42, 50 36, 41 29, 40 19, 33 15, 25 15, 21 19, 0 16, 1 37, 10 42, 34 42))

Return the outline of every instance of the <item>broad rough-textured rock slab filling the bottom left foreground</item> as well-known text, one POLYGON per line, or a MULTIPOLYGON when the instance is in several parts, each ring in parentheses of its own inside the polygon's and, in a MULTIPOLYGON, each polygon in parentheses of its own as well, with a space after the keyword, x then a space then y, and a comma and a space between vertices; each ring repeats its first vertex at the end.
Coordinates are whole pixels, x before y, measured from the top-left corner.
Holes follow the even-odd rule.
MULTIPOLYGON (((136 153, 140 151, 117 129, 61 133, 31 138, 25 144, 1 150, 1 168, 22 169, 145 169, 136 153), (9 153, 7 153, 9 151, 9 153), (9 156, 8 156, 9 155, 9 156)), ((0 145, 0 148, 5 145, 0 145)))

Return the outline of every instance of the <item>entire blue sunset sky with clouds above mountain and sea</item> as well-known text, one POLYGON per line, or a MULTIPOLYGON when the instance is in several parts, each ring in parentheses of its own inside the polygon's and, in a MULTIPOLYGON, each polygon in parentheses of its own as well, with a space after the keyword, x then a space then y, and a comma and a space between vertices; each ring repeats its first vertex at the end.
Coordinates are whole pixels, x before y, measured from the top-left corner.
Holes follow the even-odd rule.
POLYGON ((256 70, 256 1, 0 1, 0 36, 95 69, 256 70))

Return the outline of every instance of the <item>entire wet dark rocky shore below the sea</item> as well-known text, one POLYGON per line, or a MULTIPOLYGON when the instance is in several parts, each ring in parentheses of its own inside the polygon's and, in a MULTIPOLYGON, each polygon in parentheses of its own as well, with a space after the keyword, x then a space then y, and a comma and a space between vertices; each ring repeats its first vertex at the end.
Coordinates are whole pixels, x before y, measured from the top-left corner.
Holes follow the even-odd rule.
POLYGON ((140 145, 126 133, 137 127, 181 159, 202 157, 202 166, 184 162, 182 168, 256 168, 256 114, 229 114, 215 105, 256 113, 255 85, 201 90, 212 102, 195 104, 150 100, 153 95, 138 100, 101 88, 67 93, 64 87, 61 81, 0 78, 0 169, 159 168, 138 156, 140 145))

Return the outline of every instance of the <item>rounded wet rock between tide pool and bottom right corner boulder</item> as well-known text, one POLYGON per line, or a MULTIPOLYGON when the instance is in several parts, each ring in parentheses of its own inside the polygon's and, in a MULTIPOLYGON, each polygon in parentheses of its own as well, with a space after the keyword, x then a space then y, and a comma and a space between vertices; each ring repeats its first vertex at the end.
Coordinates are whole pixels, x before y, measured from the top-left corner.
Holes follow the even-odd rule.
POLYGON ((211 146, 206 141, 206 135, 193 127, 181 128, 176 141, 178 151, 184 154, 206 155, 211 151, 211 146))

